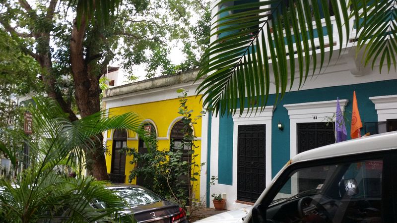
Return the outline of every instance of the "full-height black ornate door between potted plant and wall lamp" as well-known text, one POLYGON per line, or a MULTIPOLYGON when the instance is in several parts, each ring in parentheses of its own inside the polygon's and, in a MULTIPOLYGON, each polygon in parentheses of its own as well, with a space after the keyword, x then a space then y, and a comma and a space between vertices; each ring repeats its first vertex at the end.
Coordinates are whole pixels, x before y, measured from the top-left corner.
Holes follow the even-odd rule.
POLYGON ((264 124, 239 125, 237 139, 237 200, 255 202, 266 183, 264 124))

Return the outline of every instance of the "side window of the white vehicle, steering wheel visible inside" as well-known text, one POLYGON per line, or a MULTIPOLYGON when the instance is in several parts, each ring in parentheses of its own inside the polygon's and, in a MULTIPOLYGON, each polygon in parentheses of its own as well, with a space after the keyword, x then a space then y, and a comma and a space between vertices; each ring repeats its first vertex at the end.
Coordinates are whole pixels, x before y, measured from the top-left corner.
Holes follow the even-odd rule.
POLYGON ((301 168, 268 205, 276 222, 381 222, 383 160, 301 168))

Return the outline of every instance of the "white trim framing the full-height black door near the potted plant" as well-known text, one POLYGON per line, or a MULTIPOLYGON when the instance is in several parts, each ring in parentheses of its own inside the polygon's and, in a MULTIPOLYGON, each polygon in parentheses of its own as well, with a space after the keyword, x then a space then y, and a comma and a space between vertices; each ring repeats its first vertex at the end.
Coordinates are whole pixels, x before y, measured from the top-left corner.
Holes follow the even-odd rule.
POLYGON ((245 110, 240 116, 240 110, 238 109, 233 115, 233 187, 235 187, 237 197, 237 140, 238 140, 238 126, 239 125, 254 125, 254 124, 265 124, 266 128, 266 152, 265 152, 265 168, 266 168, 266 181, 267 185, 271 181, 271 120, 273 117, 273 106, 266 106, 264 111, 256 113, 253 111, 247 112, 245 110))

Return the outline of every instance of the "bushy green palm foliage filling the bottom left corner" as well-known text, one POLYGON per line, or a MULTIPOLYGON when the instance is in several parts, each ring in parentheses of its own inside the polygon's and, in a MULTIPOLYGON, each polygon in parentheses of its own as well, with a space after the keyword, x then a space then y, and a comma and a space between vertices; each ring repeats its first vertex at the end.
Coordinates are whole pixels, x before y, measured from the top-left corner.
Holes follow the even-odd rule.
MULTIPOLYGON (((29 169, 24 174, 35 172, 29 169)), ((0 185, 0 217, 5 222, 134 222, 132 215, 125 215, 122 198, 104 187, 104 182, 92 177, 69 178, 49 172, 33 185, 34 177, 26 177, 18 187, 2 181, 0 185), (105 209, 93 204, 101 201, 105 209)))

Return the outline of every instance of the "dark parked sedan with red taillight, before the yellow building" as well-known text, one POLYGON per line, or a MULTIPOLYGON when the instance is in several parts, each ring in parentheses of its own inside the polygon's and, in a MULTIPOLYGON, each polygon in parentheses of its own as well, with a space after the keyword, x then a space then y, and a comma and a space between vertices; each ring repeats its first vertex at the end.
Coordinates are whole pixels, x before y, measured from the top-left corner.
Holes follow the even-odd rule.
MULTIPOLYGON (((138 223, 188 223, 186 212, 179 205, 169 202, 154 192, 136 185, 112 185, 107 189, 124 198, 138 223)), ((93 204, 95 208, 106 208, 103 202, 93 204)))

